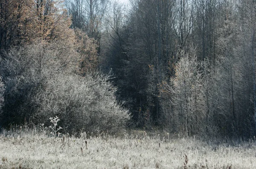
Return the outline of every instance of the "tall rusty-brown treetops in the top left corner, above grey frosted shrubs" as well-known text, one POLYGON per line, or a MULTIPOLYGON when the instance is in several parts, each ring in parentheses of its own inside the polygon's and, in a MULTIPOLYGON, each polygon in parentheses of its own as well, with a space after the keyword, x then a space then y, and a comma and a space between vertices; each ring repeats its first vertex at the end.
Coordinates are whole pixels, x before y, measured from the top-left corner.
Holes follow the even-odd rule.
POLYGON ((71 20, 60 0, 0 0, 0 49, 35 41, 71 41, 71 20))

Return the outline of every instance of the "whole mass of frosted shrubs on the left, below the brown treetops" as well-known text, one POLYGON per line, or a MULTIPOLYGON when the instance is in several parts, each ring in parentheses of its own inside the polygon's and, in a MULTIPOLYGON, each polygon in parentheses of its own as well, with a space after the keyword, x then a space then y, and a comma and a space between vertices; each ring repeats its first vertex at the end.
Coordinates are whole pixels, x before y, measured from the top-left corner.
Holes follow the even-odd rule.
MULTIPOLYGON (((129 119, 109 76, 76 75, 77 53, 51 43, 12 48, 0 62, 6 85, 1 123, 35 124, 58 115, 66 132, 117 132, 129 119)), ((79 62, 79 61, 78 61, 79 62)))

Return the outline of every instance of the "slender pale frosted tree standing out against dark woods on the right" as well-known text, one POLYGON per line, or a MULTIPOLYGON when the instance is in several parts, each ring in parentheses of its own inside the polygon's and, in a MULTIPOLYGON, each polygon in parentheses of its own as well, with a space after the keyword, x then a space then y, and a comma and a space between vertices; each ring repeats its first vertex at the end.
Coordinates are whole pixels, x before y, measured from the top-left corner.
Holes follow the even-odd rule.
MULTIPOLYGON (((183 55, 183 52, 181 53, 183 55)), ((195 55, 181 56, 175 66, 175 77, 168 90, 174 106, 172 118, 179 132, 187 135, 204 133, 206 114, 203 74, 195 55)))

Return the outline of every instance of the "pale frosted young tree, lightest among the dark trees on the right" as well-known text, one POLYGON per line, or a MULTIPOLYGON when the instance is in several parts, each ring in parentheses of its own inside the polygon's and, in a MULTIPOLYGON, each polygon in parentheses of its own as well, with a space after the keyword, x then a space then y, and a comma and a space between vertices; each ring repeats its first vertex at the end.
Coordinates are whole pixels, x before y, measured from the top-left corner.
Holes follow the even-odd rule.
POLYGON ((210 92, 209 82, 206 83, 209 75, 204 73, 209 71, 207 65, 208 61, 198 62, 195 55, 188 54, 182 54, 175 65, 175 77, 170 79, 167 87, 169 99, 166 101, 169 102, 164 104, 168 124, 175 132, 187 135, 204 135, 206 130, 209 132, 207 127, 210 126, 212 114, 207 111, 210 92))

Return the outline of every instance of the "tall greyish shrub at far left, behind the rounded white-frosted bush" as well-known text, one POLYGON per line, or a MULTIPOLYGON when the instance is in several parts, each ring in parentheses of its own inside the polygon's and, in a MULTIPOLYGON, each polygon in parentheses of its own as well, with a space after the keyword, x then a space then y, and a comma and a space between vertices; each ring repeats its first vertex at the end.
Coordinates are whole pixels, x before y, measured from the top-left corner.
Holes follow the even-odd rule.
POLYGON ((0 76, 6 85, 5 106, 0 121, 4 125, 29 121, 34 113, 32 97, 52 74, 71 72, 76 53, 59 44, 39 42, 12 48, 0 61, 0 76))

